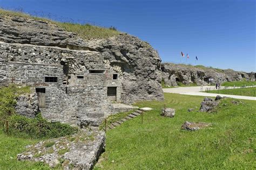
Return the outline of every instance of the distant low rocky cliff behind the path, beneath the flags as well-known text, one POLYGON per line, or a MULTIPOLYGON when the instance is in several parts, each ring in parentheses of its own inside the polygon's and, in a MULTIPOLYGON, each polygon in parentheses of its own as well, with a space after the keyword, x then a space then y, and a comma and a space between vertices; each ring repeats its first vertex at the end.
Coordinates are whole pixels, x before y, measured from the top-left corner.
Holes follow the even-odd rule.
MULTIPOLYGON (((203 66, 176 65, 173 63, 162 63, 162 77, 168 86, 177 86, 177 82, 183 84, 196 83, 198 86, 225 81, 240 81, 243 78, 253 80, 245 72, 235 72, 232 69, 214 69, 203 66)), ((255 77, 254 77, 255 80, 255 77)))

